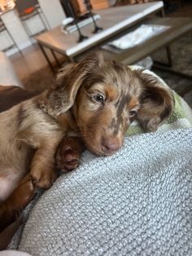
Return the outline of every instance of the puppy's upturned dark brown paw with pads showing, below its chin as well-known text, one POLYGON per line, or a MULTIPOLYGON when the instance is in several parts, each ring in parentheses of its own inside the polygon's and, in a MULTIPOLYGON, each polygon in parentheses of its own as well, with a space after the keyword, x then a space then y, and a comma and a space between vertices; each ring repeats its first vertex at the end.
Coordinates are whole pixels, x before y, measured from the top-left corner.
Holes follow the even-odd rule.
POLYGON ((56 167, 62 172, 68 172, 79 166, 79 152, 72 147, 63 145, 56 157, 56 167))

